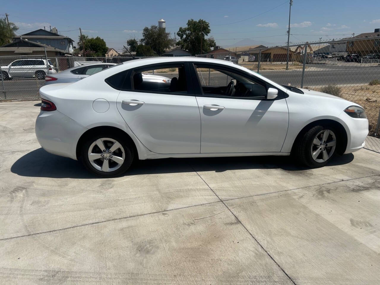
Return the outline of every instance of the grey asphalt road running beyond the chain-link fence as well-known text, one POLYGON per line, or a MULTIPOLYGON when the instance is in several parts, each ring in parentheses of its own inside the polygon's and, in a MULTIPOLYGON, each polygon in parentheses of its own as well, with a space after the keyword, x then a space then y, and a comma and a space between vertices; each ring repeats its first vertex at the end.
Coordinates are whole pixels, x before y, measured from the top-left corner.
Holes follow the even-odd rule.
MULTIPOLYGON (((301 85, 302 70, 263 70, 260 74, 280 84, 301 85)), ((171 73, 160 73, 169 78, 171 73)), ((207 74, 206 74, 207 76, 207 74)), ((224 82, 222 74, 211 74, 211 78, 224 82)), ((380 67, 349 65, 307 65, 304 86, 320 86, 328 84, 368 84, 372 79, 380 79, 380 67)), ((0 81, 0 98, 32 98, 38 97, 38 89, 44 85, 43 80, 16 79, 0 81), (3 85, 4 83, 4 92, 3 85)))

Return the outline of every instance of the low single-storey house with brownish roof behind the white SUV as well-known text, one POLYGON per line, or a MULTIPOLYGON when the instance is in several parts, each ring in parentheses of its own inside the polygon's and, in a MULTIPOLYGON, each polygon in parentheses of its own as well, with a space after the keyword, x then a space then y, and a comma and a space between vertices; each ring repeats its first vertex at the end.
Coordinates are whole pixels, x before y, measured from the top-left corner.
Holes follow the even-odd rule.
POLYGON ((62 49, 57 49, 52 46, 46 46, 41 43, 35 43, 27 39, 19 39, 11 43, 5 44, 0 47, 0 55, 46 55, 47 57, 57 57, 59 55, 65 55, 66 52, 62 49))

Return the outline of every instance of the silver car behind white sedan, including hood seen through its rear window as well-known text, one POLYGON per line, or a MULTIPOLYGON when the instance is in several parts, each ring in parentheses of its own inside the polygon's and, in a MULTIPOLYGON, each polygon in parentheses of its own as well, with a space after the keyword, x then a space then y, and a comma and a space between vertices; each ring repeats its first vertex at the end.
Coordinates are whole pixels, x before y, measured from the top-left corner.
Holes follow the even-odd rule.
MULTIPOLYGON (((45 76, 45 85, 55 84, 55 83, 69 83, 76 82, 81 79, 84 79, 92 74, 98 73, 108 67, 112 67, 116 63, 95 63, 95 64, 86 64, 77 67, 72 67, 67 70, 63 70, 54 76, 46 75, 45 76)), ((170 83, 170 79, 165 76, 154 75, 154 74, 142 74, 143 81, 149 82, 166 82, 170 83)))

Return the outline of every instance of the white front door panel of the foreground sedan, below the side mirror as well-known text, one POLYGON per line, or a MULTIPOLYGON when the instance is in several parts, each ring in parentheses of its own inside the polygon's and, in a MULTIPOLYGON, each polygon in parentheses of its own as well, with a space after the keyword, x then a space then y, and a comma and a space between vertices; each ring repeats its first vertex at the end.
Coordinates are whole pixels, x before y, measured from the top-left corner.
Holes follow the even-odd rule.
POLYGON ((289 120, 285 99, 196 97, 196 100, 201 114, 201 153, 281 150, 289 120), (217 106, 210 109, 205 105, 217 106))

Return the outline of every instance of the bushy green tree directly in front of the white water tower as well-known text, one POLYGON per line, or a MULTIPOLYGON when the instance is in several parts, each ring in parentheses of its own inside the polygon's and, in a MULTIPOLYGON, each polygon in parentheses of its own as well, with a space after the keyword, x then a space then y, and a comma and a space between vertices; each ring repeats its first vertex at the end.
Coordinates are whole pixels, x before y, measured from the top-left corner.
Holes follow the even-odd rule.
POLYGON ((174 45, 174 40, 170 38, 170 33, 166 33, 164 28, 152 25, 150 28, 145 27, 142 30, 140 43, 150 46, 156 54, 161 55, 174 45))

